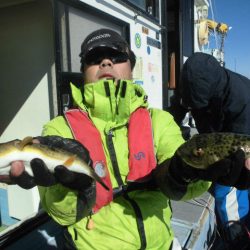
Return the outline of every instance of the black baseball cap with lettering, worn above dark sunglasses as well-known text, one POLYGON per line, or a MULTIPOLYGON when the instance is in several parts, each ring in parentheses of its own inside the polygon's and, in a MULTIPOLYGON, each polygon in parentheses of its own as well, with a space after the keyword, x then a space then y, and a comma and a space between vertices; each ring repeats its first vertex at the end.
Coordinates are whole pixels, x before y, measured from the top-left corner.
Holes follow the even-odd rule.
POLYGON ((81 63, 84 64, 86 56, 90 51, 97 48, 109 48, 113 49, 119 53, 124 53, 128 55, 131 62, 131 68, 135 66, 135 54, 130 49, 127 41, 117 32, 110 29, 99 29, 90 33, 81 45, 81 63))

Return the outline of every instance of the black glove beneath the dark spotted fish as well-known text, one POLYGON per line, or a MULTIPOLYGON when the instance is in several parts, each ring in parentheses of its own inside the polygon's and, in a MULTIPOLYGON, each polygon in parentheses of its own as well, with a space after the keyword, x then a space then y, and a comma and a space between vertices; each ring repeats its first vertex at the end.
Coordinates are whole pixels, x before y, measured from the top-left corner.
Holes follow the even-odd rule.
POLYGON ((187 165, 177 154, 171 159, 169 174, 179 183, 188 184, 196 180, 216 182, 237 189, 250 187, 250 171, 245 167, 245 153, 238 150, 207 169, 197 169, 187 165))

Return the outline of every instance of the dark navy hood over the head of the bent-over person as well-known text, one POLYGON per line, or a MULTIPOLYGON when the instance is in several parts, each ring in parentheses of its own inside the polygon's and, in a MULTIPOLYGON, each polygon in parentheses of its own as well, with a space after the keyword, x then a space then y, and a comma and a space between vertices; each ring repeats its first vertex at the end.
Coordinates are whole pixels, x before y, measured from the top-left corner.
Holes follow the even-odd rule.
POLYGON ((180 95, 183 104, 204 108, 211 98, 223 98, 227 87, 227 73, 211 55, 194 53, 183 65, 180 95))

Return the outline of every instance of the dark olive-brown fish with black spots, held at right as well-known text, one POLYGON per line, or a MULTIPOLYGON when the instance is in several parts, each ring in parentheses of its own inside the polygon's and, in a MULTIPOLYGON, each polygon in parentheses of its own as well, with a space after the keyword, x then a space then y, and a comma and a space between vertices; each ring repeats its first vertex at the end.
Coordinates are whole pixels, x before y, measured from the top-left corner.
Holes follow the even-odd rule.
POLYGON ((206 169, 238 149, 250 158, 250 136, 235 133, 196 134, 177 149, 177 154, 188 165, 206 169))

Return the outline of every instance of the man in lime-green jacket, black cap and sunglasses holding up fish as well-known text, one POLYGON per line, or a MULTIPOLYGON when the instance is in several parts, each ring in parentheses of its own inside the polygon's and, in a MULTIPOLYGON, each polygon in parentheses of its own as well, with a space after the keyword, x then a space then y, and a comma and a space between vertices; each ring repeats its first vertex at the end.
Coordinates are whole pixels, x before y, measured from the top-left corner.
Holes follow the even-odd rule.
MULTIPOLYGON (((199 196, 222 173, 200 175, 175 154, 184 142, 180 129, 169 113, 148 108, 131 80, 135 55, 119 34, 91 33, 80 57, 85 84, 83 91, 71 85, 74 109, 37 139, 83 157, 109 190, 64 166, 51 174, 41 159, 31 161, 34 177, 14 162, 12 180, 39 186, 45 211, 66 226, 65 249, 171 249, 170 199, 199 196)), ((236 156, 220 164, 230 170, 236 156)))

